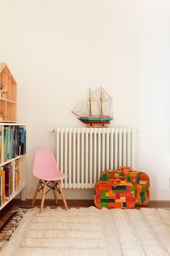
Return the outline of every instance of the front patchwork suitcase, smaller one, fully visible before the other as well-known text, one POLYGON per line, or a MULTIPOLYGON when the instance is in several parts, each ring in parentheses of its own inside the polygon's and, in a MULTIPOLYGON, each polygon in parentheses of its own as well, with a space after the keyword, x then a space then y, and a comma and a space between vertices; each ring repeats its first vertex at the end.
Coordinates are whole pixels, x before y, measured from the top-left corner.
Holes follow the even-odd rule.
POLYGON ((133 184, 120 180, 97 182, 94 187, 94 203, 97 208, 134 208, 133 184))

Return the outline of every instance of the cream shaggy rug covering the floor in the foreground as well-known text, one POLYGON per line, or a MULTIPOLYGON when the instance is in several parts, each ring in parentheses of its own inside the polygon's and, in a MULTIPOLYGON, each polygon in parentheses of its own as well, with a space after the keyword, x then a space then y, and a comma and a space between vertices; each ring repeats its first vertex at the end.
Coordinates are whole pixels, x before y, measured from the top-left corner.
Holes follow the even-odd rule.
POLYGON ((170 255, 170 210, 27 211, 1 256, 170 255))

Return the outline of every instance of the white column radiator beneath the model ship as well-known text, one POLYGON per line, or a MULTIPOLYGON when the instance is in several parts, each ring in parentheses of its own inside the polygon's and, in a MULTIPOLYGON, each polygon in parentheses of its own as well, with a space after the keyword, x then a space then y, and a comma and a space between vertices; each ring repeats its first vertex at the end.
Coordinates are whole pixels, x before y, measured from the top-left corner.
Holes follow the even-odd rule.
POLYGON ((65 189, 91 189, 104 169, 134 166, 131 128, 55 128, 56 160, 65 189))

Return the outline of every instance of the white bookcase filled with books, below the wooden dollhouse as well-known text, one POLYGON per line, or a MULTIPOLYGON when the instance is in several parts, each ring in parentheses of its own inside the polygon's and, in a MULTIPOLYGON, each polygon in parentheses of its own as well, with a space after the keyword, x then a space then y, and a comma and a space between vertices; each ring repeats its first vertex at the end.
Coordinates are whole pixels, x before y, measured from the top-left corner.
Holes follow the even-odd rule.
POLYGON ((3 178, 0 174, 0 210, 20 192, 22 200, 25 200, 26 132, 25 124, 0 123, 0 171, 4 171, 5 174, 5 187, 10 187, 7 192, 6 188, 4 190, 4 202, 2 198, 3 178))

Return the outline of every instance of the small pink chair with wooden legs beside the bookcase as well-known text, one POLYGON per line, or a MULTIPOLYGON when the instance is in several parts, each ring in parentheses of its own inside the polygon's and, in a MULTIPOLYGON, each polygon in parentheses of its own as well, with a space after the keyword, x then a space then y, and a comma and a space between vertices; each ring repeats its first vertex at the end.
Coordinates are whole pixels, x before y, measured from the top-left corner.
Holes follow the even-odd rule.
POLYGON ((56 191, 61 193, 63 203, 66 209, 68 209, 66 199, 63 194, 63 189, 61 187, 61 179, 66 179, 67 175, 62 174, 58 169, 58 165, 55 161, 53 153, 50 150, 37 150, 35 153, 35 161, 33 165, 33 175, 35 178, 39 179, 37 188, 35 190, 35 195, 32 200, 32 207, 35 205, 35 200, 37 193, 42 189, 42 199, 40 205, 40 213, 44 206, 45 194, 47 194, 51 189, 53 189, 53 194, 55 197, 55 203, 58 202, 58 197, 56 191), (49 187, 48 192, 46 188, 49 187))

